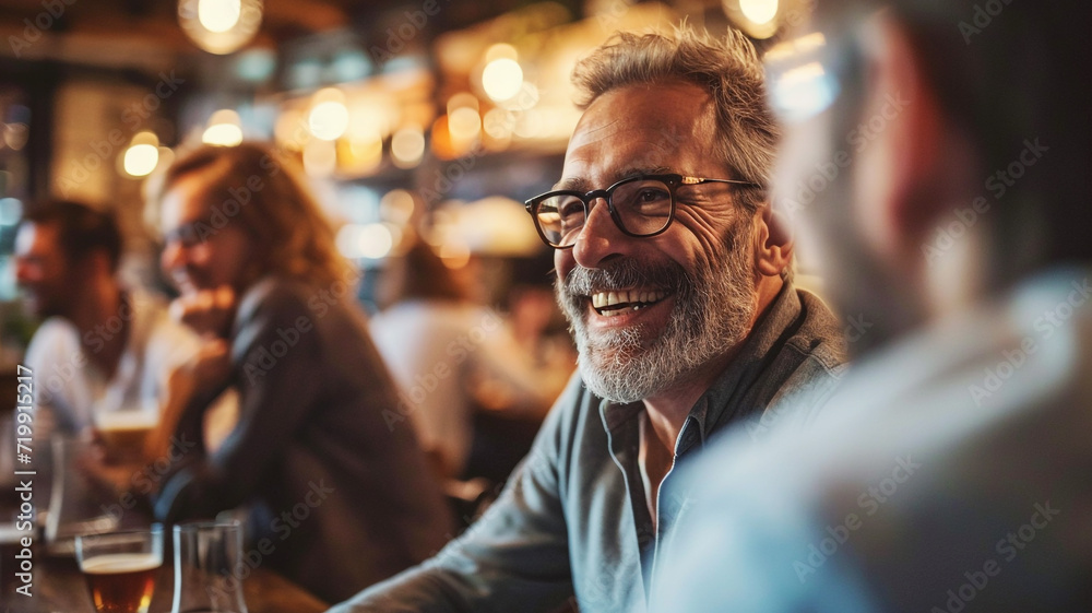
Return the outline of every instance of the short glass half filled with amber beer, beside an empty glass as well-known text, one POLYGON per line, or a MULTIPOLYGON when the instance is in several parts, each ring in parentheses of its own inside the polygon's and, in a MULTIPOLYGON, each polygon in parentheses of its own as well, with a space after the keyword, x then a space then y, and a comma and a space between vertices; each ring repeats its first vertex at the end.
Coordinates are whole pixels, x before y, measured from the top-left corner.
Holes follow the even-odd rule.
POLYGON ((163 566, 163 529, 80 534, 75 556, 98 613, 147 613, 163 566))

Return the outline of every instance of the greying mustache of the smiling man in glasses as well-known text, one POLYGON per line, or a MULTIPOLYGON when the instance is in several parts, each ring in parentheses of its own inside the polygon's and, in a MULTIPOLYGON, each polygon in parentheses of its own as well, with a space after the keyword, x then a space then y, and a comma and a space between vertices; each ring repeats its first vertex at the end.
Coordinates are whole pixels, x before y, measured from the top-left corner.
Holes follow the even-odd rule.
POLYGON ((688 281, 686 269, 678 262, 640 262, 626 258, 604 268, 577 264, 563 281, 558 281, 558 290, 569 297, 641 286, 678 292, 689 285, 688 281))

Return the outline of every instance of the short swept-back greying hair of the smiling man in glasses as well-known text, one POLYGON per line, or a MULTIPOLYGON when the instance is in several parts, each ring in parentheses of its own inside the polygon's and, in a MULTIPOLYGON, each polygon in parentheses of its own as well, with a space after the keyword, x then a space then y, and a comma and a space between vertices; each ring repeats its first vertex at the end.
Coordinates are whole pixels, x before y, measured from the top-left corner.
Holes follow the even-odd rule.
MULTIPOLYGON (((685 22, 672 35, 619 32, 572 71, 581 110, 617 87, 673 81, 709 92, 721 161, 736 178, 769 186, 779 129, 767 105, 762 63, 741 32, 728 28, 716 38, 685 22)), ((737 202, 753 211, 765 190, 738 193, 737 202)))

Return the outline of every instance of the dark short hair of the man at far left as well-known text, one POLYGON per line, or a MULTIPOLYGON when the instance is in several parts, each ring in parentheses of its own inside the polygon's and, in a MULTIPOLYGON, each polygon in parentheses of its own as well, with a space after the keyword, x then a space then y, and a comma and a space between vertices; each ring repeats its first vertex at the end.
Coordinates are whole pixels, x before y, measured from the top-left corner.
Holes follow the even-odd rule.
POLYGON ((111 213, 72 200, 45 200, 31 207, 22 224, 57 228, 57 247, 69 263, 85 260, 93 252, 106 255, 110 271, 121 259, 121 232, 111 213))

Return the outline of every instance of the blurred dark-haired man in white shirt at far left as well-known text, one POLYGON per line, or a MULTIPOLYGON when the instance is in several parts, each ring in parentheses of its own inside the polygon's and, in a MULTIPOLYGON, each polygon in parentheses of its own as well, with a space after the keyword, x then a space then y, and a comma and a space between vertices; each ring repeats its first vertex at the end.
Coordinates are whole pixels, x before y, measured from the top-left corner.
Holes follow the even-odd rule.
POLYGON ((43 202, 20 224, 15 278, 47 318, 26 354, 40 438, 107 422, 151 428, 169 374, 198 350, 165 300, 118 281, 121 244, 112 215, 76 202, 43 202))

